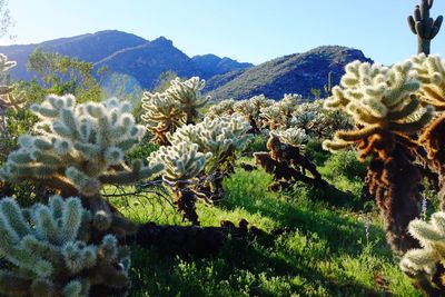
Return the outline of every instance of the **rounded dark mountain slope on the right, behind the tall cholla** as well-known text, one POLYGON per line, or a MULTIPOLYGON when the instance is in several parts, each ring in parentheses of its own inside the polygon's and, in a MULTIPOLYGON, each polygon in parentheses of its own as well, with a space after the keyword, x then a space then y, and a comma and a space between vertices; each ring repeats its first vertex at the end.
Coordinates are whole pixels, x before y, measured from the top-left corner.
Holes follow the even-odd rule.
POLYGON ((215 100, 245 99, 264 93, 279 99, 284 93, 313 97, 310 90, 327 82, 329 71, 334 83, 339 82, 344 67, 354 60, 369 61, 360 50, 338 46, 318 47, 304 53, 274 59, 246 70, 216 76, 205 89, 215 100), (219 87, 218 87, 219 85, 219 87))

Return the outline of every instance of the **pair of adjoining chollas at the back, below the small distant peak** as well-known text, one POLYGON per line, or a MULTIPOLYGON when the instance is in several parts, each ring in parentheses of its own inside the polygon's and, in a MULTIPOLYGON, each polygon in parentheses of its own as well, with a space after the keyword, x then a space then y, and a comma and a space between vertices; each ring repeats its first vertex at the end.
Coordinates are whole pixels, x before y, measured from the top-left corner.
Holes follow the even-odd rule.
POLYGON ((200 96, 204 86, 205 80, 198 77, 184 81, 176 78, 161 93, 144 93, 141 101, 146 112, 141 119, 147 123, 147 130, 154 136, 155 142, 168 145, 168 132, 175 132, 182 125, 195 123, 201 117, 199 109, 210 99, 200 96))

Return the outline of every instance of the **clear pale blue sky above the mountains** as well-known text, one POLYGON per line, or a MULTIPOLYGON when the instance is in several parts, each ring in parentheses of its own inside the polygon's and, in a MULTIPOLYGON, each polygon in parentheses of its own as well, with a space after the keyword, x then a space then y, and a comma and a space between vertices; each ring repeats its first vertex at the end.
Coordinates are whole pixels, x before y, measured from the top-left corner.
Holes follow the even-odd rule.
MULTIPOLYGON (((406 24, 419 0, 8 0, 13 43, 117 29, 165 36, 189 56, 260 63, 322 44, 358 48, 393 63, 416 52, 406 24)), ((445 14, 445 1, 432 14, 445 14)), ((4 42, 4 41, 3 41, 4 42)), ((432 52, 445 56, 445 23, 432 52)))

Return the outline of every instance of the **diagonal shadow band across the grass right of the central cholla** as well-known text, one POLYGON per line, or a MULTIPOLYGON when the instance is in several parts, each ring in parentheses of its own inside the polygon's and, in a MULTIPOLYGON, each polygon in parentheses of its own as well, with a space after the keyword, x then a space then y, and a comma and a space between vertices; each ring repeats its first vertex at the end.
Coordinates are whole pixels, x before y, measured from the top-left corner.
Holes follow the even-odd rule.
MULTIPOLYGON (((244 178, 246 176, 243 175, 244 178)), ((248 177, 247 177, 248 179, 248 177)), ((250 181, 250 180, 245 180, 250 181)), ((319 201, 334 201, 329 189, 304 188, 305 191, 294 192, 294 197, 285 198, 279 194, 267 192, 263 185, 250 184, 243 187, 229 180, 226 184, 226 197, 220 205, 227 210, 243 208, 250 214, 260 214, 274 220, 279 227, 298 229, 305 234, 317 234, 329 245, 330 253, 347 253, 356 255, 366 244, 366 231, 363 222, 355 217, 346 218, 326 209, 319 201), (301 195, 301 197, 295 197, 301 195), (314 201, 316 195, 318 201, 314 201)), ((255 224, 255 222, 254 222, 255 224)), ((392 251, 385 241, 385 232, 380 228, 370 226, 369 239, 377 241, 373 251, 380 257, 392 259, 392 251)))

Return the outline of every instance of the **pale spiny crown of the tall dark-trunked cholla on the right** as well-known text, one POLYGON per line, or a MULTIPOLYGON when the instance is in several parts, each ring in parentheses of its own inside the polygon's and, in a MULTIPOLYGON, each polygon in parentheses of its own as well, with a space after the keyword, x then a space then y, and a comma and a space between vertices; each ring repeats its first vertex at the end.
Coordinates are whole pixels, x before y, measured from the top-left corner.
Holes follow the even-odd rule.
POLYGON ((390 68, 358 61, 347 65, 325 108, 345 110, 363 129, 337 131, 334 140, 324 141, 324 148, 336 151, 383 129, 400 135, 417 132, 434 112, 431 106, 419 106, 419 88, 409 61, 390 68))

